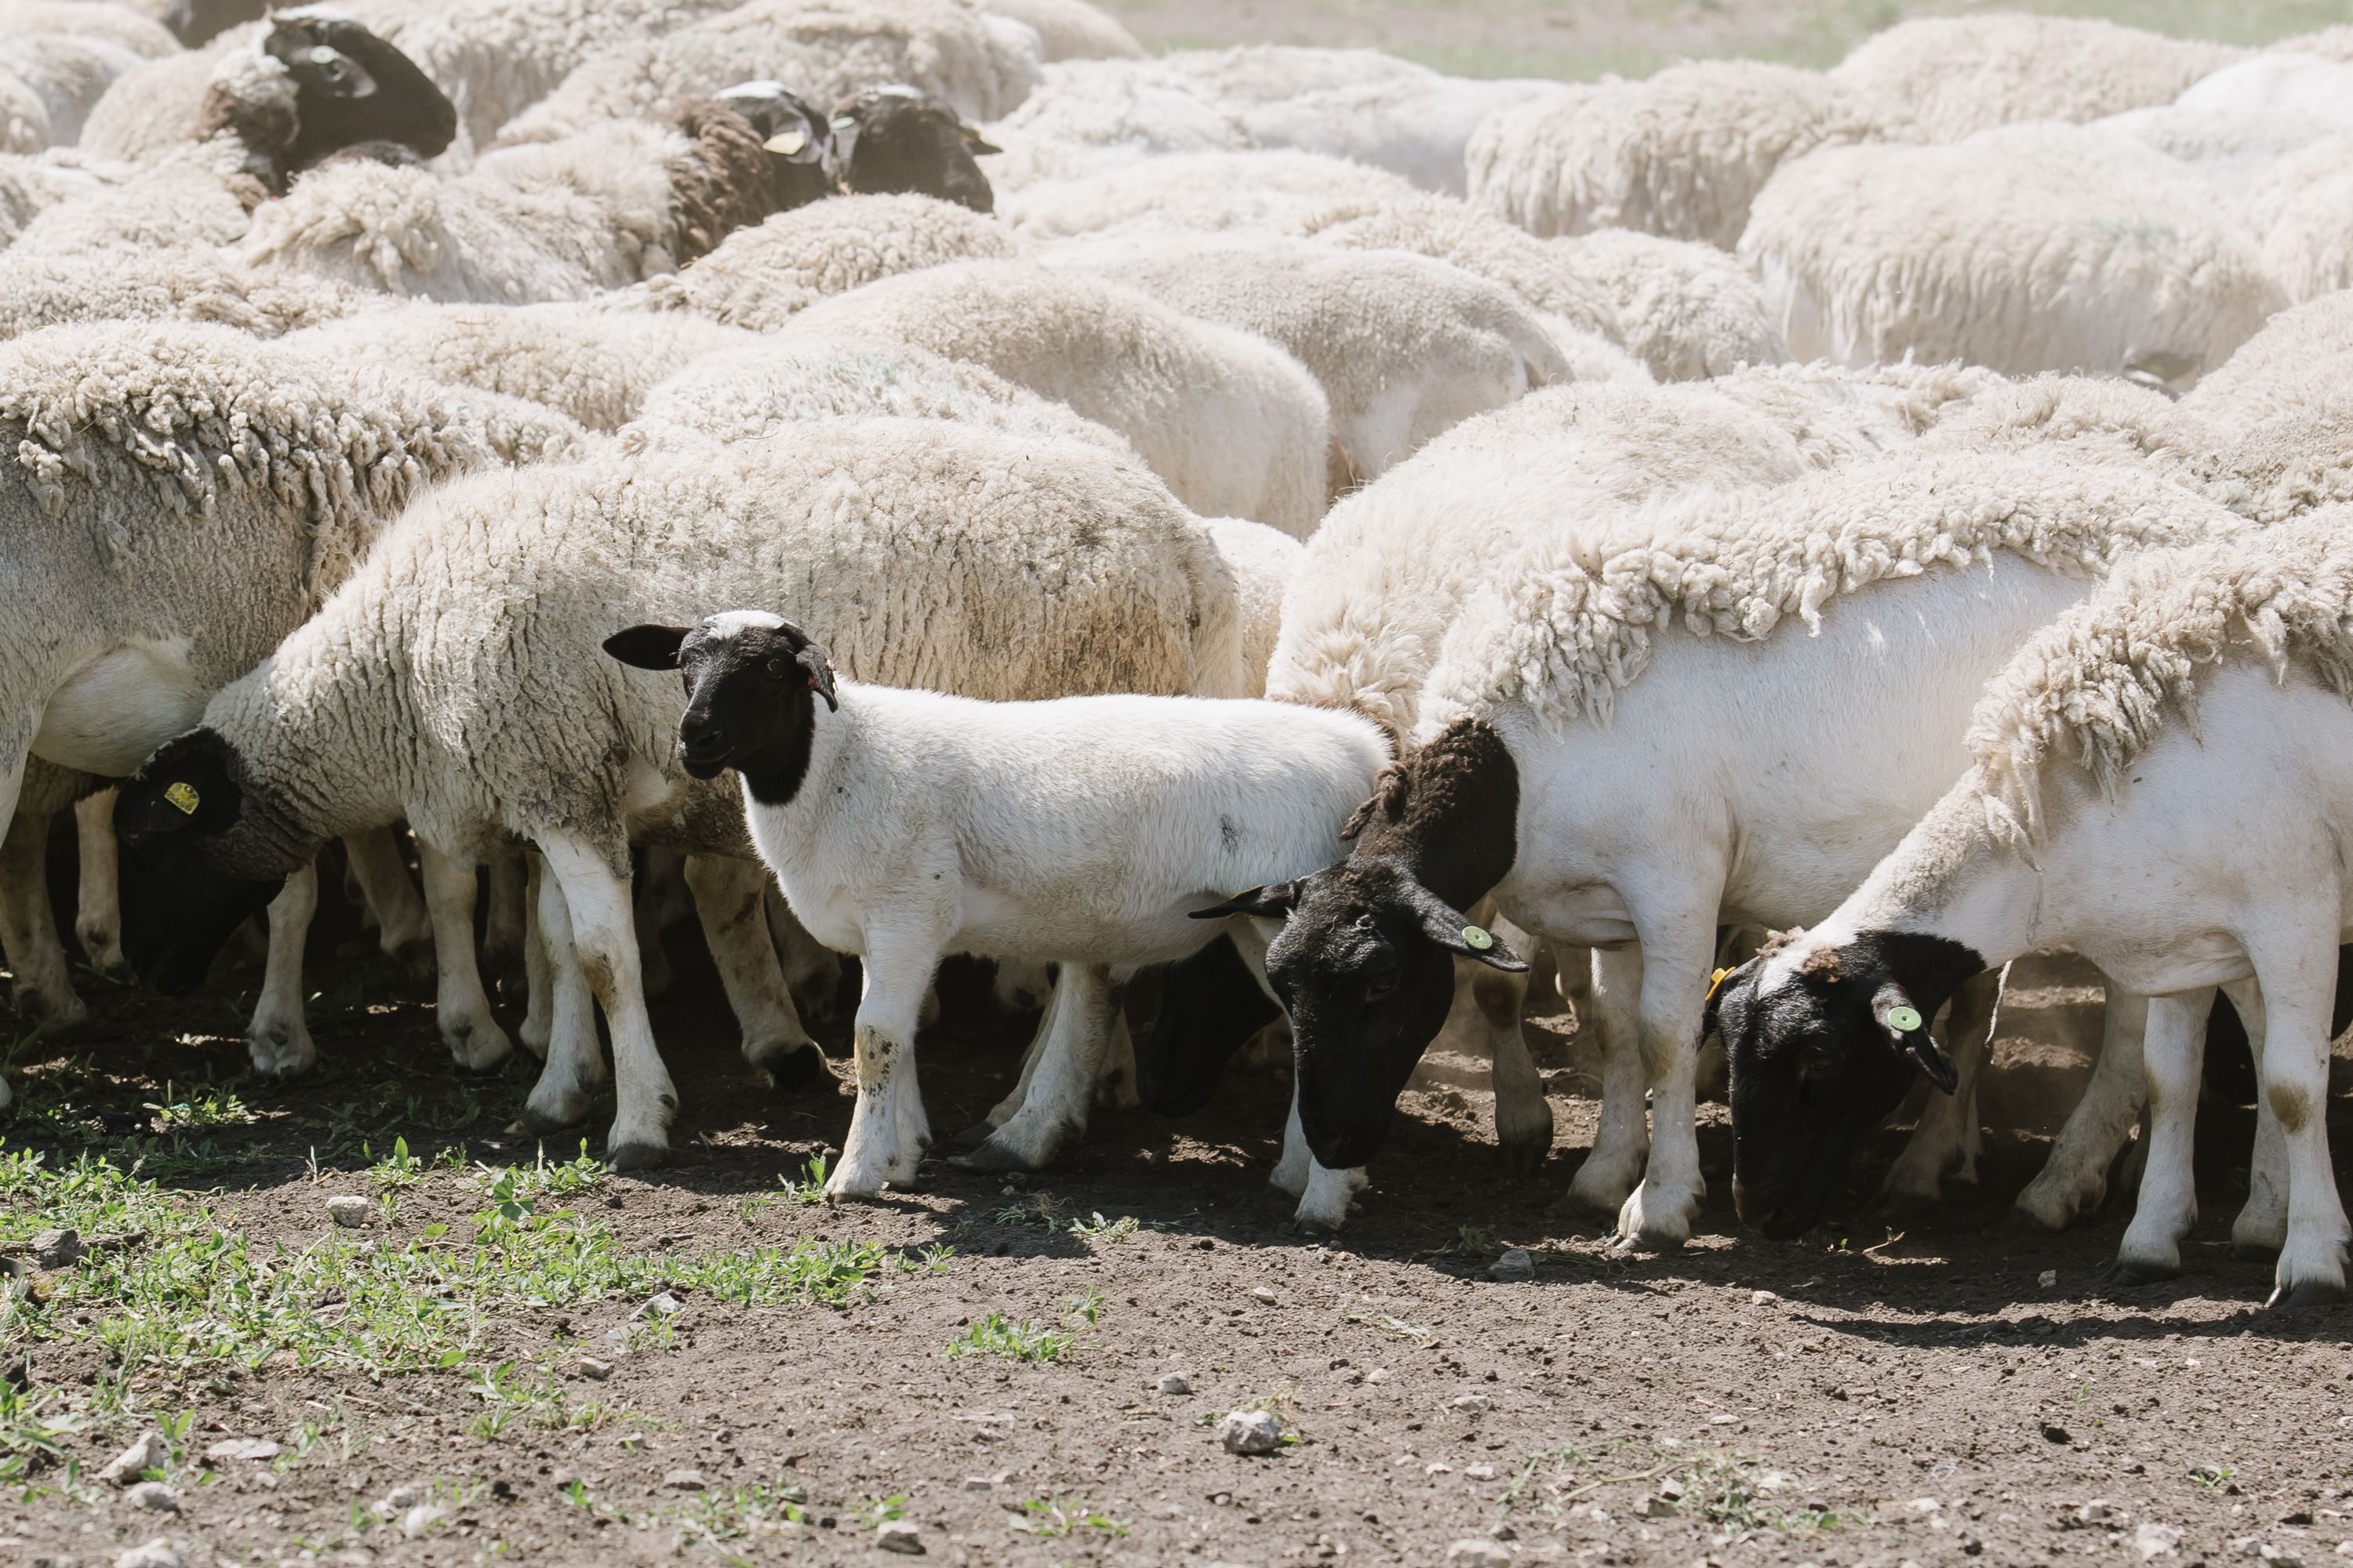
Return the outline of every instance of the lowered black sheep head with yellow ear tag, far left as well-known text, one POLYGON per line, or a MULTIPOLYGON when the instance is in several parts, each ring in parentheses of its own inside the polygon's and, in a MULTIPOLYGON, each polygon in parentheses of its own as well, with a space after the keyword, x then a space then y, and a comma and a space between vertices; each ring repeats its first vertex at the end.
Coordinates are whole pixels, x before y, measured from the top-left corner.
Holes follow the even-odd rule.
POLYGON ((247 788, 235 748, 209 729, 169 741, 125 780, 115 839, 122 954, 167 997, 202 985, 231 933, 320 849, 247 788))

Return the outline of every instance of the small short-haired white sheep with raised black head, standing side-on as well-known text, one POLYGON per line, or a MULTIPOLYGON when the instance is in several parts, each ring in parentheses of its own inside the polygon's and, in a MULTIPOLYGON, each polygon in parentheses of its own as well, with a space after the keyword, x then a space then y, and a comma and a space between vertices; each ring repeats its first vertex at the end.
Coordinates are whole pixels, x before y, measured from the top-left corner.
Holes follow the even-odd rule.
POLYGON ((826 649, 769 611, 638 625, 605 646, 685 672, 687 771, 736 771, 793 912, 866 966, 831 1197, 911 1182, 932 1140, 915 1025, 944 954, 1061 964, 1021 1110, 967 1157, 1038 1168, 1085 1131, 1122 980, 1207 945, 1217 929, 1186 914, 1221 889, 1327 860, 1388 759, 1365 719, 1273 703, 974 703, 838 682, 826 649))

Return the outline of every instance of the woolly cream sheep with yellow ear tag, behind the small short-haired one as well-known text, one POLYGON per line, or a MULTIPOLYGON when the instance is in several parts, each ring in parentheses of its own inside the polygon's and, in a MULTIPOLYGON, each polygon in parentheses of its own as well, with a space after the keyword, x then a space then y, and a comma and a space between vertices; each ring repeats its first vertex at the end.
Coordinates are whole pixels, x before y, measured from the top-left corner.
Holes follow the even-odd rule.
MULTIPOLYGON (((593 1016, 567 999, 593 992, 621 1095, 607 1154, 659 1164, 675 1095, 640 994, 628 846, 711 858, 753 903, 760 875, 729 860, 751 853, 736 792, 678 771, 675 677, 626 675, 598 642, 748 597, 824 609, 845 668, 911 686, 1224 696, 1245 679, 1209 538, 1096 447, 812 421, 791 440, 478 475, 414 503, 308 625, 205 705, 202 729, 122 788, 134 966, 188 983, 322 839, 393 818, 433 851, 426 900, 449 954, 473 929, 466 872, 527 839, 551 872, 539 912, 562 973, 525 1121, 584 1117, 602 1058, 593 1016), (854 515, 840 508, 852 489, 854 515), (174 785, 195 813, 167 802, 174 785)), ((732 900, 696 903, 748 1060, 819 1072, 765 926, 722 919, 732 900)), ((452 997, 447 969, 442 1013, 445 1034, 459 1018, 504 1044, 478 985, 452 997)))

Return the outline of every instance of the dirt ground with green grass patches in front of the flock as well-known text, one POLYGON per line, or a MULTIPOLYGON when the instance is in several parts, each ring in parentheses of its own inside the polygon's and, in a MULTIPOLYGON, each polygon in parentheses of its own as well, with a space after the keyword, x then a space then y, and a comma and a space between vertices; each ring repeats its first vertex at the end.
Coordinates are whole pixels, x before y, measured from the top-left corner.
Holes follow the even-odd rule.
MULTIPOLYGON (((452 1067, 431 987, 355 938, 348 912, 313 933, 322 1067, 296 1084, 240 1077, 242 957, 172 1001, 89 980, 80 1039, 19 1046, 0 1241, 134 1234, 12 1258, 0 1561, 878 1563, 894 1523, 955 1566, 2318 1568, 2353 1537, 2353 1309, 2268 1316, 2268 1265, 2231 1258, 2247 1110, 2200 1119, 2188 1274, 2115 1295, 2122 1211, 2005 1222, 2040 1138, 1993 1135, 1932 1227, 1767 1244, 1732 1220, 1713 1105, 1701 1234, 1609 1255, 1607 1225, 1551 1211, 1598 1107, 1546 987, 1544 1173, 1501 1171, 1475 1063, 1442 1053, 1334 1244, 1266 1187, 1280 1072, 1186 1124, 1099 1112, 1021 1182, 929 1164, 835 1211, 795 1182, 849 1098, 758 1091, 692 929, 654 1011, 678 1161, 642 1180, 576 1140, 534 1164, 499 1131, 525 1063, 452 1067), (339 1194, 365 1227, 329 1225, 339 1194), (1489 1276, 1504 1246, 1532 1279, 1489 1276), (1226 1453, 1231 1408, 1287 1441, 1226 1453), (148 1427, 167 1512, 96 1479, 148 1427)), ((2059 1044, 2002 1046, 2028 1070, 2097 997, 2047 980, 2012 1018, 2042 1009, 2059 1044)), ((976 971, 941 990, 946 1133, 1005 1091, 1024 1025, 976 971)), ((840 1056, 845 1020, 819 1032, 840 1056)), ((2339 1152, 2348 1114, 2339 1074, 2339 1152)))

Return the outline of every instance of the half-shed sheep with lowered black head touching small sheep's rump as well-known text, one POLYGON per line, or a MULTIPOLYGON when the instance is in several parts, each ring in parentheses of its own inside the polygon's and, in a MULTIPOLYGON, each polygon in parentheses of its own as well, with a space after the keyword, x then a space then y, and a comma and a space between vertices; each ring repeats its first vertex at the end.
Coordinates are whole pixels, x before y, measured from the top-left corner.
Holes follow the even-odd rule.
POLYGON ((1631 1244, 1680 1244, 1704 1190, 1692 1070, 1715 929, 1831 907, 1934 799, 1984 675, 2087 576, 2238 527, 2120 465, 1972 451, 1537 536, 1447 630, 1421 745, 1360 813, 1351 858, 1219 905, 1289 912, 1266 964, 1292 997, 1306 1145, 1337 1168, 1379 1147, 1452 992, 1449 952, 1518 966, 1461 931, 1492 893, 1527 933, 1598 947, 1602 1037, 1621 1060, 1638 1046, 1649 1077, 1647 1173, 1640 1095, 1605 1093, 1572 1199, 1624 1197, 1631 1244), (1772 637, 1791 616, 1814 635, 1772 637), (1814 766, 1788 752, 1784 689, 1840 693, 1807 701, 1814 766), (1341 943, 1358 919, 1381 938, 1341 943), (1402 978, 1367 1004, 1379 964, 1402 978))

